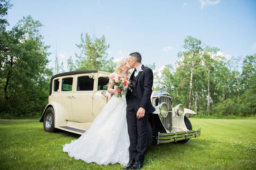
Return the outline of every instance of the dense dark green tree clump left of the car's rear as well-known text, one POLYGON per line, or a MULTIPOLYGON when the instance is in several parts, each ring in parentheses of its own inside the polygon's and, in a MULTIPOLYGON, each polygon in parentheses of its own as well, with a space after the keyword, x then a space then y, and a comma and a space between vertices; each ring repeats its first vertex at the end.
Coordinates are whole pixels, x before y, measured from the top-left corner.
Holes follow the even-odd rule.
POLYGON ((42 111, 47 104, 49 46, 43 42, 38 20, 28 15, 0 35, 1 111, 25 114, 42 111))

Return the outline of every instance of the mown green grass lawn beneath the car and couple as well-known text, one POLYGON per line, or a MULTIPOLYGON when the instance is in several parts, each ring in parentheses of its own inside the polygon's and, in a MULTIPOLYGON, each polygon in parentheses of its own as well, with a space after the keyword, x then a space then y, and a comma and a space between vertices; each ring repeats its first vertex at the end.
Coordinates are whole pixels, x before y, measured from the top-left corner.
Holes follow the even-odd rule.
MULTIPOLYGON (((201 136, 153 145, 142 169, 256 169, 256 120, 190 119, 201 136)), ((65 143, 80 135, 47 133, 39 120, 0 121, 1 169, 122 169, 70 158, 65 143)), ((86 154, 86 153, 85 153, 86 154)))

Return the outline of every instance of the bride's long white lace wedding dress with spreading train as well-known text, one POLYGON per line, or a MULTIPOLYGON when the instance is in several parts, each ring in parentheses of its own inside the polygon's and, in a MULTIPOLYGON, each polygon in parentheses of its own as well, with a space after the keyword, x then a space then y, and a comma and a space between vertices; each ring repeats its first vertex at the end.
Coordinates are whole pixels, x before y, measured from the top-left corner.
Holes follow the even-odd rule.
MULTIPOLYGON (((117 73, 110 76, 112 75, 119 76, 117 73)), ((81 159, 86 163, 127 165, 130 146, 126 122, 127 90, 121 92, 122 97, 117 97, 117 93, 114 93, 91 127, 78 139, 63 145, 63 151, 68 152, 71 158, 81 159)))

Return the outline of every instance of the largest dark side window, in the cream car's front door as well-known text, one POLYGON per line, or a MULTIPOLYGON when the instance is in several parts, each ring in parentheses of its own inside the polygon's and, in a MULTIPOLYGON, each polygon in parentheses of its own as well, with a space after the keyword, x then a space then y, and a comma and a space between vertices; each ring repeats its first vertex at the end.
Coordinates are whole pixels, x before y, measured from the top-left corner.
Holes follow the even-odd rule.
POLYGON ((80 76, 77 78, 77 91, 93 90, 94 79, 89 76, 80 76))

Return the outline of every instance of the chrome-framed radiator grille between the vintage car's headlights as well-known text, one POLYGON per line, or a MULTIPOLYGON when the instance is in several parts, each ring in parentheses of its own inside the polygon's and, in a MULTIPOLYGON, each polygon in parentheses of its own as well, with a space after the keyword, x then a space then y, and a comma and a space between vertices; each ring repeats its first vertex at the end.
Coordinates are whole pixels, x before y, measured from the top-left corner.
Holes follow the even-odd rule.
POLYGON ((167 117, 161 119, 163 126, 165 126, 165 129, 167 129, 169 132, 171 132, 171 127, 172 127, 172 118, 171 118, 171 111, 173 110, 173 101, 170 97, 166 97, 166 96, 160 96, 159 97, 159 104, 165 102, 168 105, 168 114, 167 117))

